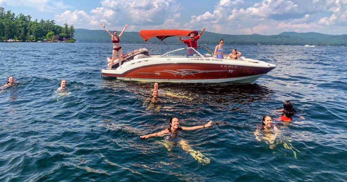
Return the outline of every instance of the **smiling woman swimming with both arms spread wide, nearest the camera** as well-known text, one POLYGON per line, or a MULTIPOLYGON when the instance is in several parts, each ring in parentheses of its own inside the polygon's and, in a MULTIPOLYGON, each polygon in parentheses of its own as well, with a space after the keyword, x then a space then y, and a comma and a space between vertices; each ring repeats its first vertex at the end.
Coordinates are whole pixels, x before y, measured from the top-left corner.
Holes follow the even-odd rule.
MULTIPOLYGON (((153 133, 149 135, 143 135, 140 136, 141 139, 147 139, 150 137, 158 137, 158 136, 163 136, 164 135, 164 141, 170 141, 172 139, 178 138, 178 132, 182 130, 195 130, 195 129, 201 129, 201 128, 208 128, 212 125, 212 121, 206 123, 205 125, 200 125, 200 126, 192 126, 192 127, 179 127, 179 121, 177 117, 172 117, 170 119, 170 126, 158 133, 153 133)), ((167 143, 166 143, 167 144, 167 143)), ((188 151, 191 156, 193 156, 196 160, 198 160, 199 163, 203 164, 209 164, 210 159, 206 158, 204 155, 201 154, 200 151, 195 151, 188 145, 188 143, 184 140, 179 140, 179 144, 181 145, 182 149, 185 151, 188 151)), ((168 148, 168 146, 166 146, 168 148)))

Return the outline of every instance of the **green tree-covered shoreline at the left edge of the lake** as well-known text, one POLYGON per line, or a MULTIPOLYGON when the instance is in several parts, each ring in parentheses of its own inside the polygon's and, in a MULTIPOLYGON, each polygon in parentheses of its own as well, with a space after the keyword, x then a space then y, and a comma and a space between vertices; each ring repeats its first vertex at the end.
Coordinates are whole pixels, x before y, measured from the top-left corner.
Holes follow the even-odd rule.
POLYGON ((17 40, 20 42, 42 41, 44 39, 57 41, 58 39, 67 42, 75 42, 74 25, 56 25, 54 20, 32 21, 30 15, 15 15, 11 10, 5 11, 0 7, 0 40, 17 40))

